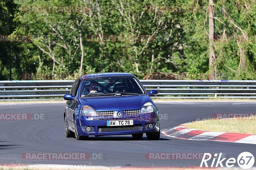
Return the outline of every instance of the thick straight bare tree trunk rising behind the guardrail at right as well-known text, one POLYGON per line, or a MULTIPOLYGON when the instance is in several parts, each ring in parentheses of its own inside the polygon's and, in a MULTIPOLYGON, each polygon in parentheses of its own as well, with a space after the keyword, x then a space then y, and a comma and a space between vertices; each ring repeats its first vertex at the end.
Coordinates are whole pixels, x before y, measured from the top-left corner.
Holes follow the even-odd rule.
POLYGON ((214 51, 214 11, 213 0, 209 0, 209 79, 216 79, 215 51, 214 51))

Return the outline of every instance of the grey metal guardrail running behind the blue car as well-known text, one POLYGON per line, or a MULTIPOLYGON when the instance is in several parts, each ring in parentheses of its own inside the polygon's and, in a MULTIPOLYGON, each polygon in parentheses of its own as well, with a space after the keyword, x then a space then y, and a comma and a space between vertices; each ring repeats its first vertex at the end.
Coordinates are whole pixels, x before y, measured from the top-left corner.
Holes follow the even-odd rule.
MULTIPOLYGON (((140 80, 158 98, 256 98, 256 80, 140 80)), ((61 99, 74 80, 0 81, 0 100, 61 99)))

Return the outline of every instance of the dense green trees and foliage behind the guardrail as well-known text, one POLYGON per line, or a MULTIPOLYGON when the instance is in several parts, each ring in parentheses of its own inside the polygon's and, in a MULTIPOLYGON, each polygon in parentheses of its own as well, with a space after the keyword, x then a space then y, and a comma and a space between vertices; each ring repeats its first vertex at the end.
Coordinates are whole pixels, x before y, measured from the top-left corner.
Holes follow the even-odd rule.
MULTIPOLYGON (((73 79, 101 72, 101 68, 102 72, 130 72, 138 78, 159 72, 184 73, 185 79, 208 78, 209 11, 155 12, 156 6, 208 6, 208 1, 3 0, 0 34, 29 35, 31 41, 0 42, 0 79, 21 79, 22 73, 35 73, 35 79, 45 79, 42 75, 52 73, 52 79, 73 79), (26 6, 87 6, 90 10, 24 11, 26 6), (123 40, 113 41, 111 35, 123 40)), ((255 42, 220 38, 255 36, 256 4, 218 0, 214 11, 219 38, 214 42, 217 78, 255 79, 255 42)))

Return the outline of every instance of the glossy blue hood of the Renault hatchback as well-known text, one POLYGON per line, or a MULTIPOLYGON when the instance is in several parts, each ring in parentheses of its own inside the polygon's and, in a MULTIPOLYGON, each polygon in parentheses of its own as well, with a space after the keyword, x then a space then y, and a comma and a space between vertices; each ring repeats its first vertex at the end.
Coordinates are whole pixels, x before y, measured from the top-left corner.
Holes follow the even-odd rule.
POLYGON ((147 95, 106 96, 80 98, 81 103, 93 107, 96 111, 141 109, 149 100, 147 95))

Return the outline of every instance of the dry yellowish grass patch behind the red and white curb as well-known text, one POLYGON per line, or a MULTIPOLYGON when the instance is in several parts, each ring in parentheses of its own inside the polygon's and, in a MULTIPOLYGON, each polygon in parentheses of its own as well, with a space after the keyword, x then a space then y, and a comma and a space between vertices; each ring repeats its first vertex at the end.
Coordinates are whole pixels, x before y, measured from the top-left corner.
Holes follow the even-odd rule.
POLYGON ((256 135, 256 116, 247 119, 207 119, 185 125, 187 128, 215 132, 233 132, 256 135))

